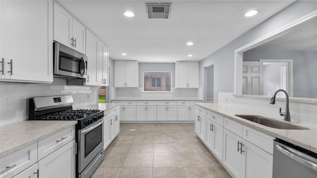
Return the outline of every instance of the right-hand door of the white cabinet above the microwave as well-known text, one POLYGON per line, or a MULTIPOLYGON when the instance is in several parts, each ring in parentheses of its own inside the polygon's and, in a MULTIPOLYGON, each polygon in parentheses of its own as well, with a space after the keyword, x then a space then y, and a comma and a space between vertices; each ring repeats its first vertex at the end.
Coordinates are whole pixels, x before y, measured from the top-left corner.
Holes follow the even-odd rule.
POLYGON ((86 27, 73 18, 73 47, 80 53, 86 54, 86 27))

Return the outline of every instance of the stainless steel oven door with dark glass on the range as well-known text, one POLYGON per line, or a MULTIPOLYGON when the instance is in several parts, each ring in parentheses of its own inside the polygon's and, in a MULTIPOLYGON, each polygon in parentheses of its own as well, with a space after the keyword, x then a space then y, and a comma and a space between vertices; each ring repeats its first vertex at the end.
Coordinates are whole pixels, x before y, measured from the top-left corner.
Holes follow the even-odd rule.
POLYGON ((104 149, 104 120, 79 130, 78 172, 81 173, 89 163, 104 149))

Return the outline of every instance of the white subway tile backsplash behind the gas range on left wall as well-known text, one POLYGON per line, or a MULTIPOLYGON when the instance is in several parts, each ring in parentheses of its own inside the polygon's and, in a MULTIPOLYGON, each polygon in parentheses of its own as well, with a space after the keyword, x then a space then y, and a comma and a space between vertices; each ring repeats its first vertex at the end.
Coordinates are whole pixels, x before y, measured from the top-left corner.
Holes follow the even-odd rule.
POLYGON ((30 97, 71 94, 73 108, 77 108, 96 104, 97 92, 97 87, 68 86, 60 78, 54 78, 52 84, 0 83, 0 126, 27 120, 30 97))

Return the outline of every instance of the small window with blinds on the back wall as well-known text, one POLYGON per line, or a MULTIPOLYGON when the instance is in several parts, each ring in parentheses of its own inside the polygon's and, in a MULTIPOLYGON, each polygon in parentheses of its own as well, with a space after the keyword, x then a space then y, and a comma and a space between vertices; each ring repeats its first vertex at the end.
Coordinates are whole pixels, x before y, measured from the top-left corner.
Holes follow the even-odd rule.
POLYGON ((170 92, 171 72, 143 72, 143 91, 170 92))

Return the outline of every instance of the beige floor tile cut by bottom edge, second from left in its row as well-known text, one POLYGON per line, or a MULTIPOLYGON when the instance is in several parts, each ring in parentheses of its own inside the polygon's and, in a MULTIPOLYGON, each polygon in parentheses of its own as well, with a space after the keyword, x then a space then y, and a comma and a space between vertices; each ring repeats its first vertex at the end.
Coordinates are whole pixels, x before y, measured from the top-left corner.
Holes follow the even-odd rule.
POLYGON ((119 178, 152 178, 152 168, 122 168, 119 178))

